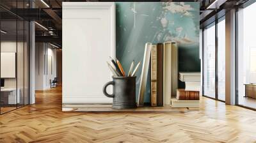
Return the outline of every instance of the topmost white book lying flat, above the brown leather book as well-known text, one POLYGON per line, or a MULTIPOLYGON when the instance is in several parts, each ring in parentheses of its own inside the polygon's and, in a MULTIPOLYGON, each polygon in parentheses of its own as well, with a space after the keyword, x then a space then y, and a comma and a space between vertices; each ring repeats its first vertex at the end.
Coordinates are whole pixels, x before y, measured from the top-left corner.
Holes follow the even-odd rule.
POLYGON ((179 80, 182 82, 200 82, 200 72, 179 72, 179 80))

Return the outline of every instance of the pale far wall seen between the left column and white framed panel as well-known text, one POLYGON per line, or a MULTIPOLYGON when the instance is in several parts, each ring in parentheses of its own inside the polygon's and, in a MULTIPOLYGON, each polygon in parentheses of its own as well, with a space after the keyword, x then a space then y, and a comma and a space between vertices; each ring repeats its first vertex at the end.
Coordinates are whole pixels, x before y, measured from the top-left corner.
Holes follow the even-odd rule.
POLYGON ((54 77, 56 77, 56 49, 49 43, 36 43, 35 89, 49 89, 50 79, 53 80, 54 77), (49 67, 52 67, 52 72, 49 67))

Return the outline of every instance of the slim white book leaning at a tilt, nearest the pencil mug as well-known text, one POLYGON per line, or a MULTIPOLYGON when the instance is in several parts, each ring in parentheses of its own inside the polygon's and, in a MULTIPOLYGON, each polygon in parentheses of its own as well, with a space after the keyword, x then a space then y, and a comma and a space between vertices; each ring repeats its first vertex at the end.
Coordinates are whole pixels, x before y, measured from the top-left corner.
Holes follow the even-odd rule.
POLYGON ((143 102, 144 102, 144 94, 145 94, 146 84, 147 84, 151 49, 152 49, 152 43, 146 43, 144 58, 143 58, 143 65, 142 65, 142 70, 141 70, 140 89, 139 89, 138 103, 137 103, 138 107, 143 106, 143 102))

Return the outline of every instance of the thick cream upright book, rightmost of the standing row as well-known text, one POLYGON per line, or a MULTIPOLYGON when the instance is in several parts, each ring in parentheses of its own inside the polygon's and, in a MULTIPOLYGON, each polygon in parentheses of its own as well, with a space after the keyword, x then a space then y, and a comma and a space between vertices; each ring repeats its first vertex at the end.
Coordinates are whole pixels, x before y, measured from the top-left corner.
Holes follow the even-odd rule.
POLYGON ((178 79, 177 44, 165 42, 163 48, 163 106, 171 105, 172 96, 176 96, 178 79))

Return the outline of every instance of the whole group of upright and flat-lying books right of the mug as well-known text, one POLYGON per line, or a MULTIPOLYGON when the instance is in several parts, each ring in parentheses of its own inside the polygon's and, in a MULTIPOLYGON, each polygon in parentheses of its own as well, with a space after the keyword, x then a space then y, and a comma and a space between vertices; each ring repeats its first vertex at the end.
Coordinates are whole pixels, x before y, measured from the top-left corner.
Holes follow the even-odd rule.
POLYGON ((143 106, 149 70, 152 107, 199 107, 200 72, 180 72, 178 75, 178 55, 177 43, 145 44, 138 107, 143 106), (177 89, 178 77, 185 82, 185 89, 177 89))

